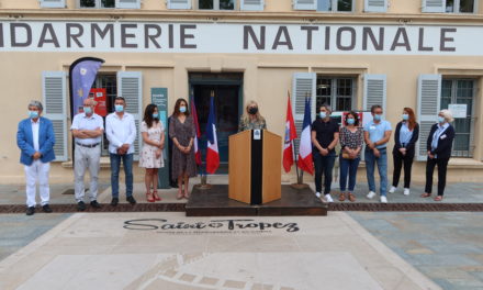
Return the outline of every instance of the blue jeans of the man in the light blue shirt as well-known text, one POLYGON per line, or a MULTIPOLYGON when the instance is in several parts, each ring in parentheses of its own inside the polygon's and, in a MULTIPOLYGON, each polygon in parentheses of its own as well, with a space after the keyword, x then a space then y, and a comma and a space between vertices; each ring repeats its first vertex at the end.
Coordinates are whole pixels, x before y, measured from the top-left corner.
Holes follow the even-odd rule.
POLYGON ((371 149, 366 149, 366 172, 368 175, 369 190, 375 192, 374 167, 378 164, 379 177, 381 179, 381 197, 387 193, 387 150, 379 149, 380 156, 377 158, 371 149))

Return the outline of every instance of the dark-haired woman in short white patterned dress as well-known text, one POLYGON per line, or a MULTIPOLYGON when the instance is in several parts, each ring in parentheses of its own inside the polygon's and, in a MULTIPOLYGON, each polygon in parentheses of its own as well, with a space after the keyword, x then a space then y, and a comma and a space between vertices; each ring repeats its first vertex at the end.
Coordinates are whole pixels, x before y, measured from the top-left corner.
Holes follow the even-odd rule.
POLYGON ((146 168, 144 181, 146 185, 146 200, 155 202, 161 200, 158 196, 158 169, 165 167, 162 148, 165 147, 165 126, 159 121, 158 107, 148 104, 144 111, 144 119, 141 123, 143 135, 143 149, 139 156, 139 167, 146 168), (153 186, 153 191, 150 190, 153 186))

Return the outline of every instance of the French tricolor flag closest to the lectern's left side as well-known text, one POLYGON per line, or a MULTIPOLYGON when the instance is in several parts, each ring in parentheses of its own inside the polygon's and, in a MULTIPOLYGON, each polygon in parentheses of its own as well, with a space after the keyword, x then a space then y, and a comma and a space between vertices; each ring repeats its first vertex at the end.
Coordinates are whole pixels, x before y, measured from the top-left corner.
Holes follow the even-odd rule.
POLYGON ((218 141, 216 138, 214 97, 210 98, 210 115, 206 123, 206 172, 214 174, 220 166, 218 141))

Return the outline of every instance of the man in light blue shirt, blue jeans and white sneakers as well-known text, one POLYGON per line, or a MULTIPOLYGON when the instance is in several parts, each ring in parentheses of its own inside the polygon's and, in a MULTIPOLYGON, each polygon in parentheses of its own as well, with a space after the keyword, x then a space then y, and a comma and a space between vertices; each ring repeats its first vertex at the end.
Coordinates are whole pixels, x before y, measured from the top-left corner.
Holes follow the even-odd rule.
POLYGON ((374 104, 371 108, 373 120, 364 125, 366 141, 366 172, 368 176, 369 193, 368 199, 375 197, 374 167, 378 164, 379 177, 381 179, 380 196, 381 202, 387 203, 387 149, 386 144, 391 138, 391 123, 382 120, 382 107, 374 104))

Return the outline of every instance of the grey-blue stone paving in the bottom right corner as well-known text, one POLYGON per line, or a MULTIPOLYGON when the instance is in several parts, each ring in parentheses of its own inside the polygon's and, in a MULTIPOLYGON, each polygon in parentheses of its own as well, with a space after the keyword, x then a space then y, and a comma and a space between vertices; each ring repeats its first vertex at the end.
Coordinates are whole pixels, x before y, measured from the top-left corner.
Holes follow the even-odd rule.
POLYGON ((483 213, 351 212, 349 215, 441 288, 483 289, 483 213))

